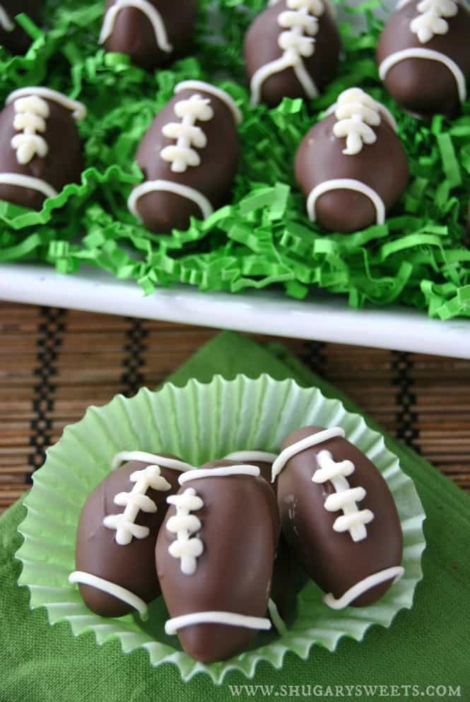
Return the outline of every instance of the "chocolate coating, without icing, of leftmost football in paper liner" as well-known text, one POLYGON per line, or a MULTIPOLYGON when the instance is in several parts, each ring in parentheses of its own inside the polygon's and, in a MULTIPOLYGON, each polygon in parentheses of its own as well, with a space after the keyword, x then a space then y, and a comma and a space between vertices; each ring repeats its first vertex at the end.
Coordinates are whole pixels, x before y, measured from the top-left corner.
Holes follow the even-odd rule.
MULTIPOLYGON (((175 458, 168 454, 161 455, 175 458)), ((114 538, 115 530, 103 526, 102 520, 107 515, 124 511, 124 507, 114 504, 114 496, 120 492, 130 492, 134 487, 134 483, 129 479, 131 473, 143 470, 148 465, 151 464, 129 461, 107 475, 90 494, 81 510, 75 554, 77 571, 98 575, 99 578, 121 585, 147 603, 160 595, 155 571, 155 543, 167 511, 166 498, 177 492, 180 472, 162 467, 161 474, 168 480, 171 489, 158 491, 149 488, 146 492, 157 505, 157 511, 152 514, 141 510, 136 517, 136 524, 151 530, 145 539, 133 537, 130 544, 121 546, 114 538)), ((79 589, 87 607, 96 614, 122 616, 133 611, 132 607, 122 600, 95 587, 79 585, 79 589)))

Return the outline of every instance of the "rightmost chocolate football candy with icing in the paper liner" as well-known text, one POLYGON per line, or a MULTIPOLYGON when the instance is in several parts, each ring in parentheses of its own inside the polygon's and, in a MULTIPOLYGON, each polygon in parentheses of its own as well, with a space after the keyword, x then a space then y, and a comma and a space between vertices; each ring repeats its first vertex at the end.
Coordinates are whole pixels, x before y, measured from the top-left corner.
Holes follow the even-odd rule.
POLYGON ((274 462, 283 534, 333 609, 363 607, 401 577, 403 536, 377 468, 340 427, 307 426, 274 462))

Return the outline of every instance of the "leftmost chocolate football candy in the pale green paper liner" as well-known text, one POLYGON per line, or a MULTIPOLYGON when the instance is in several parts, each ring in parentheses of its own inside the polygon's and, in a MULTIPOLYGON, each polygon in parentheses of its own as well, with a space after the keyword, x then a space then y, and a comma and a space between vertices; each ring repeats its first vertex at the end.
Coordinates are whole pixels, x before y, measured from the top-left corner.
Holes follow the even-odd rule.
POLYGON ((173 456, 124 451, 88 497, 69 582, 78 583, 96 614, 122 616, 136 609, 146 619, 147 604, 160 595, 154 551, 166 498, 177 491, 180 473, 190 469, 173 456))

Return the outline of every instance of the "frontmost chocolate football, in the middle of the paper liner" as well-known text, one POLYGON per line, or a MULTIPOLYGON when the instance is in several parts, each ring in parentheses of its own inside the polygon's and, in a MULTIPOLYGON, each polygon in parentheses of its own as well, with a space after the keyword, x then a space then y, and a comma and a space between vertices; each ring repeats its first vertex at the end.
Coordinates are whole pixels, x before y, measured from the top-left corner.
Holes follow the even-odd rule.
POLYGON ((180 476, 155 550, 171 617, 165 631, 206 663, 240 653, 271 628, 279 534, 276 498, 259 469, 222 463, 180 476))

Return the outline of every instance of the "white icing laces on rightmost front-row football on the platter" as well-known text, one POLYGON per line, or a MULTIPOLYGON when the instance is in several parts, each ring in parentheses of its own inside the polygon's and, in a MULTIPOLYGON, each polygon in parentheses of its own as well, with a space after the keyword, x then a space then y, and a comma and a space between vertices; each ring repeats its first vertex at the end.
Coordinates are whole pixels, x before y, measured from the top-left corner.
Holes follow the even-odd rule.
POLYGON ((338 139, 346 137, 346 156, 355 156, 364 144, 375 144, 377 134, 371 127, 381 122, 380 105, 360 88, 349 88, 339 95, 334 115, 333 134, 338 139))

